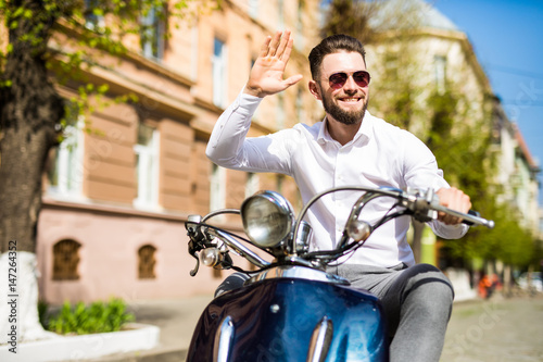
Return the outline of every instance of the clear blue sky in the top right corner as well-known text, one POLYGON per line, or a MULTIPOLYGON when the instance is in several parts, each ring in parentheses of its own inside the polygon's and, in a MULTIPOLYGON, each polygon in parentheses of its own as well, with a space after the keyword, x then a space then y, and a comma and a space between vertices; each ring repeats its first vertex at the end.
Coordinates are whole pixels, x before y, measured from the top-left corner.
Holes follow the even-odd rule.
MULTIPOLYGON (((530 152, 543 163, 543 0, 427 0, 467 34, 530 152)), ((543 176, 539 175, 540 183, 543 176)), ((543 188, 540 188, 543 205, 543 188)))

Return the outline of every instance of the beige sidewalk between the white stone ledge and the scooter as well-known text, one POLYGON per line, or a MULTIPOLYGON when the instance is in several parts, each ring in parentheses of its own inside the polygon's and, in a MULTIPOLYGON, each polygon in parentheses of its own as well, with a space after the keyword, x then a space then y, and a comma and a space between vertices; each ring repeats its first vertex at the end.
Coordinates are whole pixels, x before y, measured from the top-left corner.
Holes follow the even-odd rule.
POLYGON ((113 354, 96 362, 179 362, 185 361, 192 332, 212 296, 176 300, 147 300, 129 303, 136 322, 161 328, 160 344, 146 351, 113 354))

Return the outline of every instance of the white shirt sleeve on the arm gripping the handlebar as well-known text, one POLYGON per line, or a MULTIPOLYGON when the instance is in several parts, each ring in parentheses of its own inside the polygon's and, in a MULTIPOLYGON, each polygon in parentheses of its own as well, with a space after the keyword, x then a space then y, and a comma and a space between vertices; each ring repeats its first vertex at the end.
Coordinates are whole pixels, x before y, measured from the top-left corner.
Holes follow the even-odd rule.
MULTIPOLYGON (((422 141, 413 136, 406 147, 408 147, 406 150, 416 150, 415 152, 404 152, 406 186, 420 189, 432 188, 434 191, 451 187, 443 177, 443 171, 438 168, 435 157, 422 141)), ((428 225, 435 235, 444 239, 459 239, 469 229, 466 224, 446 225, 437 220, 429 222, 428 225)))

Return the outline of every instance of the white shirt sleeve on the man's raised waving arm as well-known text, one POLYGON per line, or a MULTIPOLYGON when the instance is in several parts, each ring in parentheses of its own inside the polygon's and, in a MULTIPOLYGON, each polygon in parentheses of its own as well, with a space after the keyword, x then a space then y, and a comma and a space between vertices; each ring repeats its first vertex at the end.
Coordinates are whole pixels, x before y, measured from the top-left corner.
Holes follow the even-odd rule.
POLYGON ((205 154, 219 166, 290 175, 288 140, 292 129, 247 138, 251 118, 262 98, 241 92, 219 116, 210 137, 205 154))

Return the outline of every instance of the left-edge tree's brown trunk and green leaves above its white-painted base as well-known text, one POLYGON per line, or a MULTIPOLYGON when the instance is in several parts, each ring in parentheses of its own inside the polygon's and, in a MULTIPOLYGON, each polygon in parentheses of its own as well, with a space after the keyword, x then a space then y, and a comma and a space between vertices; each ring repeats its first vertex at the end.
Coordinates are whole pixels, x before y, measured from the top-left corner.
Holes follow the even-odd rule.
POLYGON ((78 97, 70 103, 92 111, 88 100, 106 93, 109 86, 91 83, 89 70, 115 66, 105 62, 111 55, 139 52, 157 26, 146 22, 151 12, 165 24, 167 37, 175 20, 219 4, 190 2, 0 0, 0 252, 10 239, 17 239, 22 251, 35 251, 43 166, 62 136, 68 107, 56 85, 76 88, 78 97))

